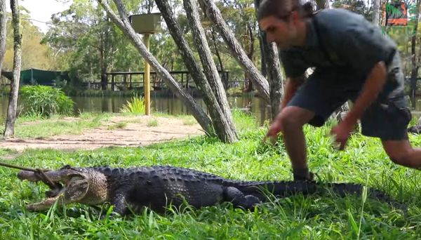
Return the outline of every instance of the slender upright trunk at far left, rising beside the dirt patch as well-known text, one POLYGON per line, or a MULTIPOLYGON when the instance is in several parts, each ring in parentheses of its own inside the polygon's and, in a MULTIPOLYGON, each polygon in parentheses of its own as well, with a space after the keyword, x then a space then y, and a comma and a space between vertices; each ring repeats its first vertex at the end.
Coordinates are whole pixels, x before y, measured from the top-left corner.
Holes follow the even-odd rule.
POLYGON ((18 0, 11 0, 12 25, 13 25, 13 81, 11 82, 11 93, 9 95, 5 137, 11 137, 15 134, 16 108, 18 107, 18 91, 20 79, 21 45, 22 34, 20 33, 20 14, 18 9, 18 0))

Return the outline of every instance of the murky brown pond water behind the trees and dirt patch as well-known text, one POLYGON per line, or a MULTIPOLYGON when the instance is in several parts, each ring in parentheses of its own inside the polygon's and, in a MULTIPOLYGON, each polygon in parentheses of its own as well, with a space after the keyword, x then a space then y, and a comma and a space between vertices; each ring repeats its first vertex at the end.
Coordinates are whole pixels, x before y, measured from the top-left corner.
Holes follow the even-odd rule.
MULTIPOLYGON (((130 100, 130 97, 72 97, 76 103, 74 105, 74 114, 79 112, 119 112, 121 107, 130 100)), ((196 102, 206 109, 202 98, 194 98, 196 102)), ((190 114, 181 100, 173 98, 154 97, 151 95, 151 111, 163 112, 171 115, 190 114)), ((238 108, 255 116, 256 120, 262 124, 270 118, 270 108, 266 107, 265 102, 260 98, 254 97, 230 97, 228 98, 230 107, 238 108)), ((8 98, 0 97, 0 118, 3 119, 7 114, 8 98)))

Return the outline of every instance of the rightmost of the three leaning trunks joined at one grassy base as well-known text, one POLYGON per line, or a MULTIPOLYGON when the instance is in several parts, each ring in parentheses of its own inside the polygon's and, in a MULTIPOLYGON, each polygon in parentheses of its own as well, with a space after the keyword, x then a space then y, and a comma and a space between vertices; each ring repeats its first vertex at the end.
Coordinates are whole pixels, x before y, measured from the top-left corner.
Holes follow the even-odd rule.
POLYGON ((234 142, 237 140, 238 136, 236 135, 232 112, 229 108, 227 94, 225 93, 220 75, 218 74, 218 69, 215 62, 213 62, 212 53, 210 52, 208 41, 206 40, 205 30, 200 22, 196 4, 197 3, 194 0, 184 0, 184 7, 187 13, 187 20, 189 21, 190 29, 192 29, 194 44, 196 44, 210 88, 212 88, 213 94, 215 94, 218 105, 222 111, 222 115, 220 115, 217 119, 212 119, 214 123, 213 126, 215 127, 217 133, 221 132, 221 137, 224 140, 234 142))

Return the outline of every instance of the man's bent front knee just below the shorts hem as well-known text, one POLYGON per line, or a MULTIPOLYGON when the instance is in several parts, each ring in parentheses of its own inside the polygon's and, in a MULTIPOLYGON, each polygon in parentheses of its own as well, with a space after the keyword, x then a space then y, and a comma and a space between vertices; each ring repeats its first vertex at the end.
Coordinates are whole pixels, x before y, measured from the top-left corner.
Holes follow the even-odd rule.
POLYGON ((286 107, 279 116, 279 122, 283 130, 290 128, 301 128, 314 116, 314 112, 301 107, 286 107))

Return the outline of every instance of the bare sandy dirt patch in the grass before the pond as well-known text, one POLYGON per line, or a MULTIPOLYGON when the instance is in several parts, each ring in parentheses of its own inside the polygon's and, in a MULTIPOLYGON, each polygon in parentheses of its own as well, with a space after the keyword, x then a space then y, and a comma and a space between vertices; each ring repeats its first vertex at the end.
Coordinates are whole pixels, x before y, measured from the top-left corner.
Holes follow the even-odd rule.
POLYGON ((202 134, 201 126, 195 121, 192 124, 191 121, 170 117, 116 116, 102 126, 83 131, 80 135, 55 135, 37 139, 8 138, 0 140, 0 148, 21 152, 27 148, 73 150, 111 146, 136 147, 202 134))

